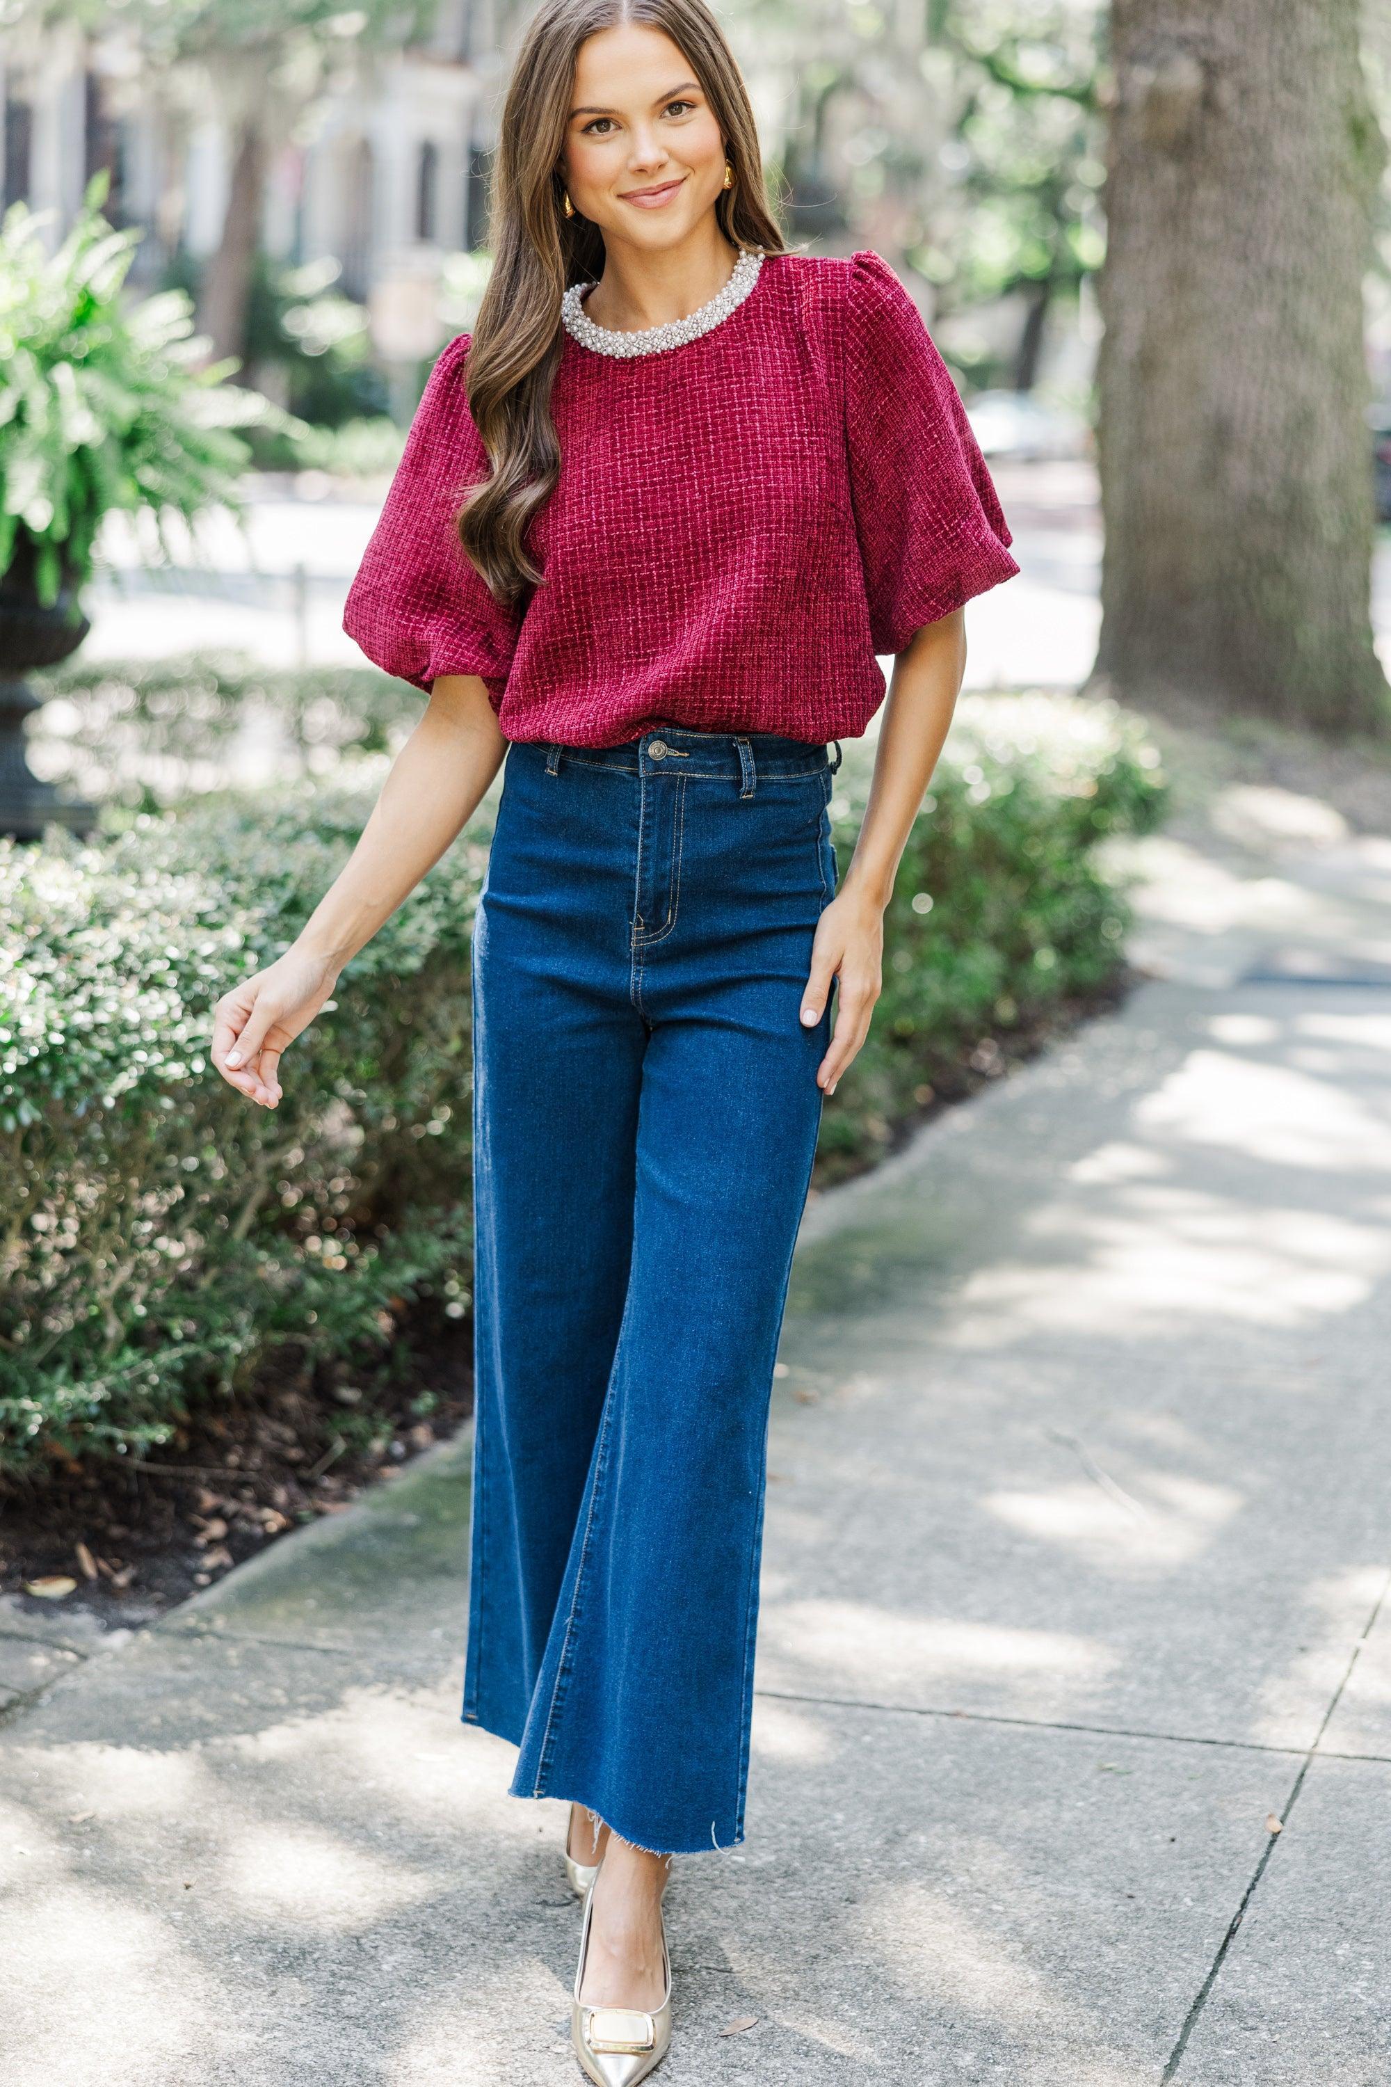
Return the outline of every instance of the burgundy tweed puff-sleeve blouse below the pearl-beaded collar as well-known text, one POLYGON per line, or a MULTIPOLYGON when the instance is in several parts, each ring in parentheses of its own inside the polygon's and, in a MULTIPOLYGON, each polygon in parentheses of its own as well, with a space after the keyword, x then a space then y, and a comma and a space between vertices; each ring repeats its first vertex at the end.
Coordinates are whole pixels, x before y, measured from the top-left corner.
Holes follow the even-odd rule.
POLYGON ((876 653, 1018 572, 951 376, 874 253, 770 255, 676 349, 619 359, 565 334, 523 611, 455 528, 488 476, 467 351, 425 386, 344 628, 417 689, 480 674, 507 739, 855 739, 884 697, 876 653))

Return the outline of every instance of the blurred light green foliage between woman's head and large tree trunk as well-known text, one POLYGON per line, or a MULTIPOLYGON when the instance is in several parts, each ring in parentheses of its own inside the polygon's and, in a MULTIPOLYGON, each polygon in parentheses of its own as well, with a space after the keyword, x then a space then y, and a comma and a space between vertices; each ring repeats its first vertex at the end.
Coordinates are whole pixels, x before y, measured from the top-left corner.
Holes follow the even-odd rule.
POLYGON ((955 359, 1030 390, 1053 301, 1103 253, 1105 0, 749 0, 745 19, 788 79, 790 230, 876 244, 938 317, 1018 296, 1014 355, 955 359))

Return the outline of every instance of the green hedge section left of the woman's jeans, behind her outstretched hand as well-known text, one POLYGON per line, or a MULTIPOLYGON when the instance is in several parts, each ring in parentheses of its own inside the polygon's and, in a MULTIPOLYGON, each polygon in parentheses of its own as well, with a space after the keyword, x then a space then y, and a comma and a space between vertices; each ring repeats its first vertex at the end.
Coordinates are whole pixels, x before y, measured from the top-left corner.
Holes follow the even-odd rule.
POLYGON ((482 841, 363 952, 273 1114, 209 1071, 213 1002, 298 933, 365 810, 319 785, 0 847, 0 1469, 146 1450, 286 1340, 365 1357, 405 1300, 467 1306, 482 841))

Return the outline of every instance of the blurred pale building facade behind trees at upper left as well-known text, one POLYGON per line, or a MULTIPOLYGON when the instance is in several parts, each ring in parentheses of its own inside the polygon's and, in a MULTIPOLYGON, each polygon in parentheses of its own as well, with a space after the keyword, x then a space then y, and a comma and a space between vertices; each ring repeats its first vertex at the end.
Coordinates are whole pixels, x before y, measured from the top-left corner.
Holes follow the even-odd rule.
MULTIPOLYGON (((275 152, 265 250, 282 261, 342 263, 342 288, 367 296, 402 250, 478 246, 484 161, 494 140, 505 0, 440 0, 432 35, 369 61, 350 90, 323 94, 302 134, 275 152)), ((0 44, 4 202, 71 219, 88 179, 106 169, 106 215, 148 238, 138 275, 179 253, 217 246, 229 184, 229 136, 150 90, 129 38, 50 33, 0 44)))

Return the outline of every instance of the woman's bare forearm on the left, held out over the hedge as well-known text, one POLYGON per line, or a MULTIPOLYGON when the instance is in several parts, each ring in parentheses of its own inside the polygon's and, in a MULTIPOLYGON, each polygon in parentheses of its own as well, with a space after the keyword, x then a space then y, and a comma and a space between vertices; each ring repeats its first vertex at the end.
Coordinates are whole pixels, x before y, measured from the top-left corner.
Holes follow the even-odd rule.
POLYGON ((436 680, 430 707, 396 755, 338 879, 298 937, 342 968, 371 941, 478 810, 507 741, 471 674, 436 680))

